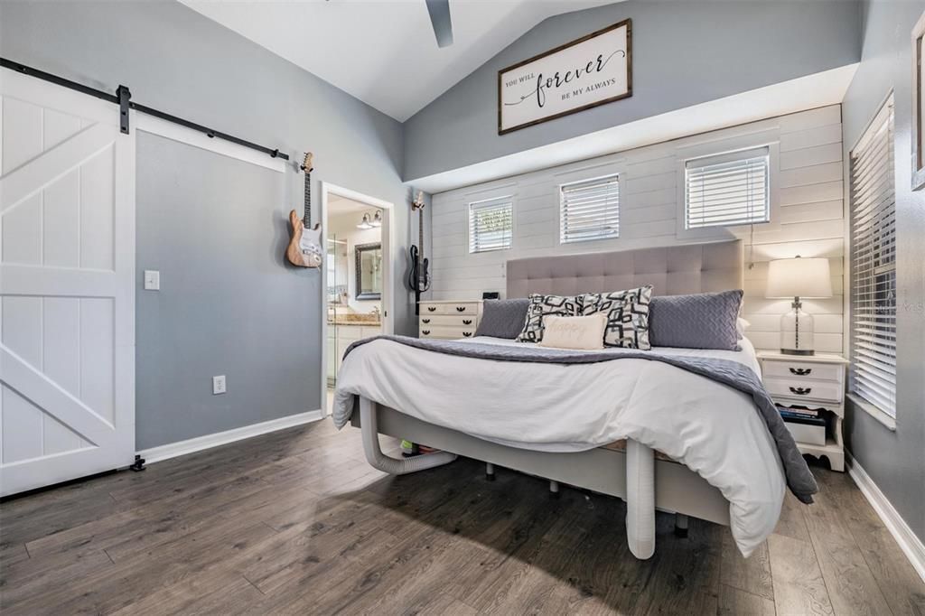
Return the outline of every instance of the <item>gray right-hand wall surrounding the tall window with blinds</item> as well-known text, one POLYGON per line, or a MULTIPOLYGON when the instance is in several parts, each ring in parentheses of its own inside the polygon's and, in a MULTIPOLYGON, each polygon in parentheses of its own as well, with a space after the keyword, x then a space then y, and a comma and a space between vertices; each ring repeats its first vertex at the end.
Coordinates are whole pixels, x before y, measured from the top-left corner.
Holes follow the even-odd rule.
POLYGON ((845 161, 870 118, 895 100, 896 431, 849 408, 847 447, 925 541, 925 191, 910 190, 912 59, 910 36, 925 2, 878 0, 863 6, 863 55, 842 107, 845 161))

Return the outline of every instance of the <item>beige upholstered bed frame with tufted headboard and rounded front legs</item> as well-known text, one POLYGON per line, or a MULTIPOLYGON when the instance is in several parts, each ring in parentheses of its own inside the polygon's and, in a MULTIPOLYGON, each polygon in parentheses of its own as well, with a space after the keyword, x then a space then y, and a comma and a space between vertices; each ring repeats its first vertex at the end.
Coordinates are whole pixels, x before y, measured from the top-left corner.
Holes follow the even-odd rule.
MULTIPOLYGON (((651 284, 656 295, 741 289, 742 243, 735 240, 547 256, 507 264, 509 298, 530 293, 574 295, 632 289, 644 284, 651 284)), ((360 413, 353 413, 351 422, 361 427, 366 460, 377 469, 390 474, 413 473, 452 462, 460 454, 487 462, 489 479, 497 465, 549 479, 554 494, 563 483, 624 499, 627 541, 638 559, 648 559, 655 551, 656 509, 676 513, 676 529, 682 533, 686 532, 688 515, 729 524, 729 502, 719 489, 683 464, 657 457, 655 451, 632 439, 627 439, 623 450, 521 450, 428 424, 375 400, 361 398, 359 402, 360 413), (394 459, 379 449, 379 434, 426 443, 440 451, 394 459)))

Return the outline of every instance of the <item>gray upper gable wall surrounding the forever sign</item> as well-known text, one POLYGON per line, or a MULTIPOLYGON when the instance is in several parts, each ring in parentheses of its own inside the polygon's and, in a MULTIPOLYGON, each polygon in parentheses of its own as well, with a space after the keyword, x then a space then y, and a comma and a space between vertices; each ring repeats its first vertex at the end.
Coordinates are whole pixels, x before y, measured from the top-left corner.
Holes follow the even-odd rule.
POLYGON ((856 63, 853 0, 631 0, 549 18, 405 122, 403 178, 424 178, 856 63), (633 19, 633 96, 498 135, 498 70, 633 19))

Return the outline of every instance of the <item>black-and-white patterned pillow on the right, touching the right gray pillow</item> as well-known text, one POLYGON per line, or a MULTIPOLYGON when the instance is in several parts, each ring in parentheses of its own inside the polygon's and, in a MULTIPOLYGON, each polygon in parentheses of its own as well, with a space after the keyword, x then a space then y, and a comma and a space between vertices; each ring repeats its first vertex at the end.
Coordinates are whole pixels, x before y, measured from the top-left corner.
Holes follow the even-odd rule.
POLYGON ((624 347, 648 351, 648 304, 652 299, 652 286, 613 291, 586 293, 581 296, 581 314, 607 314, 604 330, 605 347, 624 347))

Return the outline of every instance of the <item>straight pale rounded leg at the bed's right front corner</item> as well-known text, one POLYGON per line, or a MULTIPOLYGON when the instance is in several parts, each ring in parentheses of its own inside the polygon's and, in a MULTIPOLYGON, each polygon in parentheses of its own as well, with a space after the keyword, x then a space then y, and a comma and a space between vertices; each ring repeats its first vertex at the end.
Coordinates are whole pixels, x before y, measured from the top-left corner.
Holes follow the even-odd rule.
POLYGON ((626 540, 640 561, 655 552, 655 453, 626 439, 626 540))

